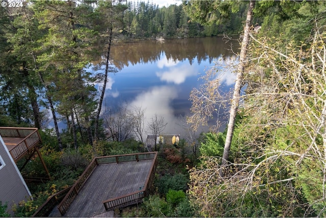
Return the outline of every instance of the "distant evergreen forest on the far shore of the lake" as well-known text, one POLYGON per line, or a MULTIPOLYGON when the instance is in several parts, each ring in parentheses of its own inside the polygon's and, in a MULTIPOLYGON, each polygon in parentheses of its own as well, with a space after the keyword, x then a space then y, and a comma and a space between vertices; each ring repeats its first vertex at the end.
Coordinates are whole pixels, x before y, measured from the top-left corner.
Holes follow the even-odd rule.
POLYGON ((122 34, 131 38, 176 38, 217 36, 224 33, 239 34, 246 6, 239 2, 240 10, 227 22, 201 25, 187 15, 182 5, 158 8, 154 2, 128 2, 122 34))

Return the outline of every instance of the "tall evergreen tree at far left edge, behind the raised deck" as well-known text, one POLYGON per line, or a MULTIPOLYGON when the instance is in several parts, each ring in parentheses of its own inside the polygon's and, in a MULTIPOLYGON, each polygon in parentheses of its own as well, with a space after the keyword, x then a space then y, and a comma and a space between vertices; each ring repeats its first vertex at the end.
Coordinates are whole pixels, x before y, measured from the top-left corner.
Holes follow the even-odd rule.
POLYGON ((4 90, 8 95, 3 103, 7 102, 8 113, 15 117, 18 124, 22 120, 27 123, 33 122, 35 127, 40 129, 41 115, 37 95, 40 86, 33 71, 34 62, 31 55, 40 34, 35 27, 37 21, 32 19, 33 12, 26 4, 21 8, 3 10, 4 14, 12 18, 10 25, 6 25, 6 22, 9 24, 8 19, 2 18, 5 22, 3 30, 7 28, 2 35, 8 38, 3 47, 8 49, 3 51, 6 56, 3 59, 6 66, 3 72, 3 87, 6 89, 10 87, 9 90, 4 90))

